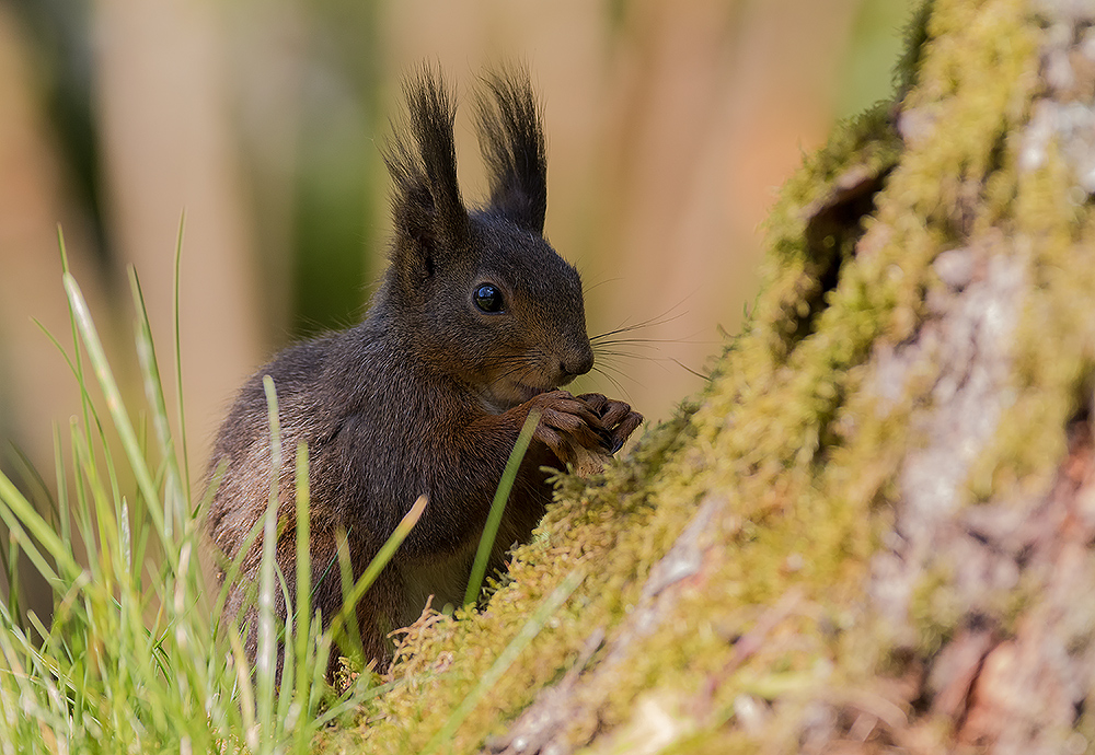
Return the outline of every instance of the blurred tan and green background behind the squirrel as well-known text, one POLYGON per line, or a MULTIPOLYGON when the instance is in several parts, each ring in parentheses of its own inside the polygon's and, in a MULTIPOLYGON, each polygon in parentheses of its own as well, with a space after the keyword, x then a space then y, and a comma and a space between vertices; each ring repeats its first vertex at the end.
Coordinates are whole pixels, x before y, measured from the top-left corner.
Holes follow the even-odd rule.
MULTIPOLYGON (((758 284, 775 189, 834 118, 890 94, 912 0, 0 0, 0 465, 51 479, 74 381, 56 226, 120 369, 125 268, 160 358, 180 332, 192 471, 235 388, 295 338, 356 322, 384 265, 380 147, 400 77, 463 102, 523 60, 545 105, 548 234, 590 333, 649 323, 580 390, 652 419, 695 390, 758 284)), ((483 197, 469 108, 466 199, 483 197)), ((139 390, 134 378, 129 388, 139 390)), ((171 387, 170 385, 168 386, 171 387)))

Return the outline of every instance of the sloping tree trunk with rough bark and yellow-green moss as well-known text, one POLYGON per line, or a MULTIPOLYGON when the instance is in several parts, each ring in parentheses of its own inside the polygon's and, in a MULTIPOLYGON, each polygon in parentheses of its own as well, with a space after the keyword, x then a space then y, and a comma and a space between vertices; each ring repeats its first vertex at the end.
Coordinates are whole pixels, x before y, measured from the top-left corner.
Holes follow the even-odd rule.
POLYGON ((926 5, 895 102, 785 187, 707 390, 563 480, 512 580, 413 627, 406 683, 344 734, 1095 746, 1093 24, 1082 1, 926 5))

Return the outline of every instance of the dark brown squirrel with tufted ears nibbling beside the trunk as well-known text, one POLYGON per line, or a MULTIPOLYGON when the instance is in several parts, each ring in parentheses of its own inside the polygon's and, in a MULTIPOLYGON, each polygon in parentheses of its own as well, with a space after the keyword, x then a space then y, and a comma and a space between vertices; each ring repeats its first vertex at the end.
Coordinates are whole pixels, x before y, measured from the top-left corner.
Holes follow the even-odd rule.
MULTIPOLYGON (((338 538, 356 579, 418 496, 417 525, 357 607, 368 659, 391 655, 390 630, 427 600, 459 605, 503 468, 530 411, 540 414, 502 522, 492 566, 527 542, 551 500, 544 467, 565 469, 620 449, 643 418, 599 394, 558 390, 589 372, 578 272, 543 237, 546 156, 528 72, 488 74, 479 136, 489 204, 465 208, 457 185, 452 97, 424 69, 404 84, 410 133, 385 150, 393 181, 390 266, 357 326, 291 346, 241 388, 210 462, 224 465, 206 527, 229 558, 263 518, 270 450, 263 376, 277 390, 283 462, 278 516, 296 521, 295 453, 308 444, 312 605, 328 624, 342 608, 338 538)), ((295 527, 276 561, 295 602, 295 527)), ((224 613, 252 629, 245 600, 261 537, 243 558, 224 613), (242 612, 242 615, 241 615, 242 612)), ((222 576, 223 578, 223 576, 222 576)), ((253 592, 251 593, 253 595, 253 592)), ((287 605, 275 590, 275 613, 287 605)))

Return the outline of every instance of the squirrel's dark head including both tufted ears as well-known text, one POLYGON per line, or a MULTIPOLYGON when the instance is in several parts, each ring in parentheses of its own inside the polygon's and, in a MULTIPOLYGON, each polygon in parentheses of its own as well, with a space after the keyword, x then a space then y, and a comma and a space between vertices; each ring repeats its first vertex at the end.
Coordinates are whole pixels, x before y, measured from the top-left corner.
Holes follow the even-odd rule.
POLYGON ((491 199, 469 211, 457 185, 456 108, 438 74, 405 84, 408 135, 385 154, 394 239, 393 325, 426 360, 502 411, 593 365, 581 280, 544 241, 548 163, 528 73, 494 73, 479 98, 491 199))

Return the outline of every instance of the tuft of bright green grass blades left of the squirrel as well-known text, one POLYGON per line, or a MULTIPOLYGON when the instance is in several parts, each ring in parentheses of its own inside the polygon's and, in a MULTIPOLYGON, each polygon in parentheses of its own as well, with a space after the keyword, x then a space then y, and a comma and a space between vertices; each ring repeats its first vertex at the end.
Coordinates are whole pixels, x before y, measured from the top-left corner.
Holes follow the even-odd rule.
MULTIPOLYGON (((261 641, 253 664, 243 650, 251 628, 220 620, 226 592, 207 583, 199 564, 208 549, 200 522, 211 491, 200 499, 192 493, 183 399, 170 404, 180 411, 176 435, 140 281, 130 274, 143 396, 127 406, 59 241, 72 348, 50 339, 80 386, 83 406, 67 433, 55 430, 56 495, 33 469, 23 475, 34 483, 30 498, 0 473, 0 521, 8 531, 0 558, 10 585, 0 600, 0 754, 310 752, 330 721, 356 711, 381 688, 371 686, 371 674, 359 675, 341 695, 325 681, 333 643, 309 602, 307 448, 296 449, 300 600, 285 626, 273 611, 280 596, 275 591, 286 589, 274 559, 276 488, 253 533, 263 538, 261 641), (51 617, 26 607, 21 561, 45 580, 51 617)), ((177 333, 175 340, 177 360, 177 333)), ((175 375, 181 378, 177 367, 175 375)), ((279 453, 273 388, 267 386, 270 442, 279 453)), ((210 488, 222 474, 212 475, 210 488)), ((419 500, 412 508, 382 557, 354 585, 353 600, 424 506, 419 500)), ((238 569, 239 559, 227 568, 228 579, 238 569)), ((336 618, 335 630, 344 622, 336 618)))

